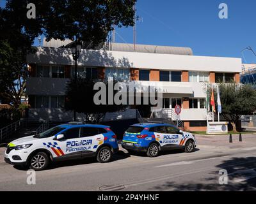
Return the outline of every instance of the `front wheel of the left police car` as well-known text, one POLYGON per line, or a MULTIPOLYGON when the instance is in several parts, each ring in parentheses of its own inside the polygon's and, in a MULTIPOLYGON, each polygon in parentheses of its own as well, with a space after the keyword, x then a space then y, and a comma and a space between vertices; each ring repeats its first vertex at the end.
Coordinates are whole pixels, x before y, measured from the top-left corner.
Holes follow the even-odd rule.
POLYGON ((38 152, 31 157, 29 164, 31 169, 41 171, 47 168, 49 162, 49 157, 45 152, 38 152))

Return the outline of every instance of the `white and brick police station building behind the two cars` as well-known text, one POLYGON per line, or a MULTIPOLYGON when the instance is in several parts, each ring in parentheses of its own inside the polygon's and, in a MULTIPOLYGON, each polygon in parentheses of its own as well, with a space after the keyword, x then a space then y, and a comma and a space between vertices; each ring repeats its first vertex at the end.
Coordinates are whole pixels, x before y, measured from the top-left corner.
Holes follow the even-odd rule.
MULTIPOLYGON (((28 55, 29 117, 35 120, 72 120, 65 112, 66 83, 74 76, 74 59, 70 41, 44 41, 36 54, 28 55)), ((111 43, 100 49, 82 49, 77 60, 77 73, 88 78, 134 81, 142 86, 163 88, 163 110, 133 105, 143 118, 175 120, 173 108, 180 105, 180 121, 187 131, 205 131, 205 85, 230 81, 240 82, 241 59, 193 55, 191 48, 111 43)), ((81 115, 80 115, 81 116, 81 115)), ((83 115, 81 116, 83 117, 83 115)), ((211 120, 212 115, 209 115, 211 120)))

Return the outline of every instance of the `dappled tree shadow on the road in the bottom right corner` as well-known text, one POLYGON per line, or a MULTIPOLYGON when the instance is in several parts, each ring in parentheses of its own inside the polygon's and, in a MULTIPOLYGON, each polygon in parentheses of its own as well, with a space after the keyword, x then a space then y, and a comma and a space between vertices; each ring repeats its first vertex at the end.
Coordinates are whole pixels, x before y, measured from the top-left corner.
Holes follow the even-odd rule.
MULTIPOLYGON (((233 157, 216 168, 228 172, 228 184, 219 184, 219 171, 212 171, 208 178, 195 180, 186 184, 165 182, 163 185, 154 186, 154 191, 256 191, 256 157, 233 157)), ((192 175, 193 179, 193 175, 192 175)), ((191 180, 192 180, 191 179, 191 180)))

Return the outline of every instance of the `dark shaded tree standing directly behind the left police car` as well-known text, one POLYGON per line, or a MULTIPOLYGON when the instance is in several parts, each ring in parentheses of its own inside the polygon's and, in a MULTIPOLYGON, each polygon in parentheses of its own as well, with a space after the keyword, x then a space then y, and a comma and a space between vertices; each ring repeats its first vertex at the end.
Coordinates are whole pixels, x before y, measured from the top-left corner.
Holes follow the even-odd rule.
MULTIPOLYGON (((106 85, 106 96, 108 96, 108 91, 113 91, 114 96, 118 92, 108 89, 108 81, 88 80, 81 77, 77 78, 77 82, 70 80, 67 84, 66 91, 65 110, 84 113, 86 122, 90 123, 99 123, 100 119, 107 112, 122 111, 127 107, 127 105, 108 105, 108 101, 107 105, 96 105, 93 101, 93 96, 98 92, 97 90, 93 90, 95 82, 103 82, 106 85)), ((113 83, 115 84, 116 81, 113 83)))

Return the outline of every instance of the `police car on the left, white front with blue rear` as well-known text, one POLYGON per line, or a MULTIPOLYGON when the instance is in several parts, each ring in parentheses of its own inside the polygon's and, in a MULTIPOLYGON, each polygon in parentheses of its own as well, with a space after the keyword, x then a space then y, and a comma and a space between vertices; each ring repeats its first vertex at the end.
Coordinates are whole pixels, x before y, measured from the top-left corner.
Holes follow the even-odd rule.
POLYGON ((116 135, 109 126, 70 122, 8 144, 6 163, 45 170, 52 161, 97 157, 100 163, 118 152, 116 135))

